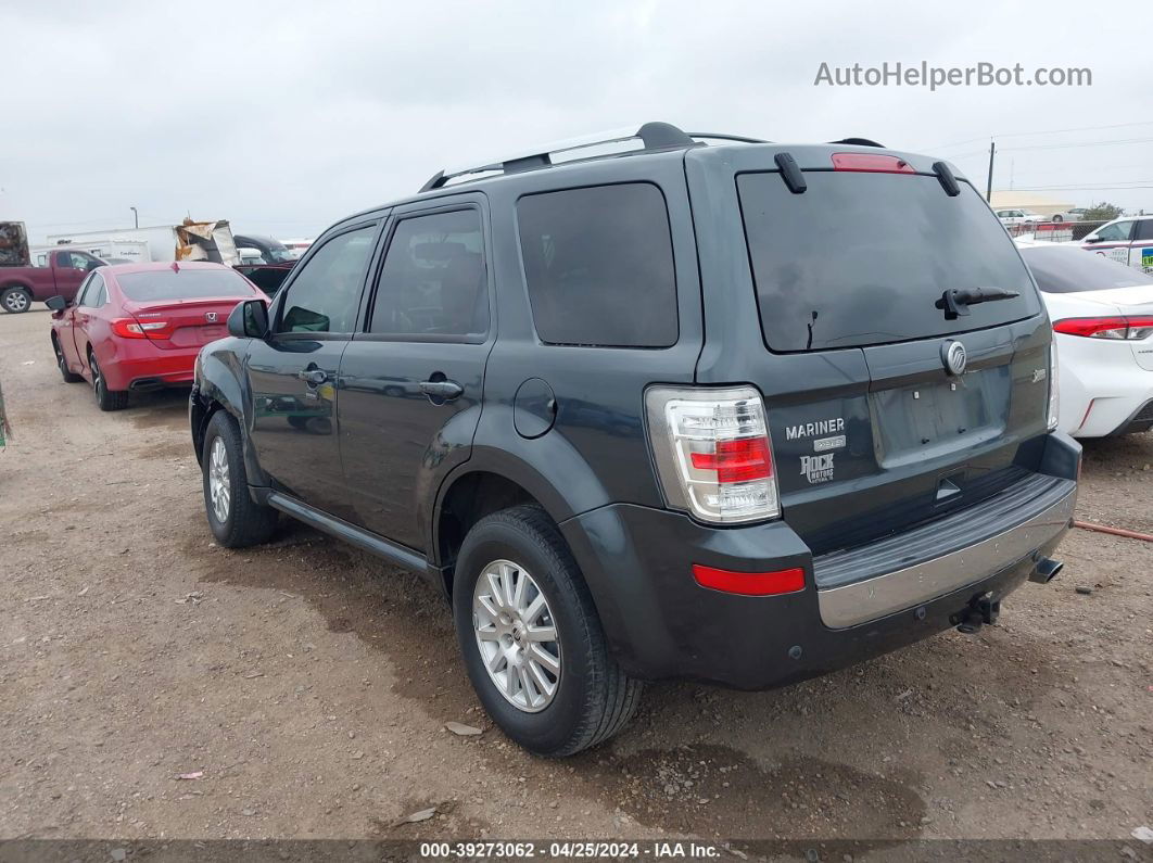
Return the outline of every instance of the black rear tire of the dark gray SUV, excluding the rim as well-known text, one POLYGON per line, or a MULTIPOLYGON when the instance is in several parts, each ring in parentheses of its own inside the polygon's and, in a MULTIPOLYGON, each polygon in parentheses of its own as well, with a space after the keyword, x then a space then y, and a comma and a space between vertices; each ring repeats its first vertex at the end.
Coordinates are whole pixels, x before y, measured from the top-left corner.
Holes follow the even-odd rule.
POLYGON ((528 751, 551 758, 573 755, 611 737, 636 711, 642 684, 610 654, 576 561, 538 507, 505 509, 473 527, 457 559, 452 604, 473 688, 497 726, 528 751), (497 560, 515 561, 532 574, 557 629, 563 666, 556 695, 535 713, 502 695, 477 646, 473 592, 482 571, 497 560))

